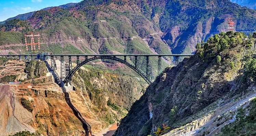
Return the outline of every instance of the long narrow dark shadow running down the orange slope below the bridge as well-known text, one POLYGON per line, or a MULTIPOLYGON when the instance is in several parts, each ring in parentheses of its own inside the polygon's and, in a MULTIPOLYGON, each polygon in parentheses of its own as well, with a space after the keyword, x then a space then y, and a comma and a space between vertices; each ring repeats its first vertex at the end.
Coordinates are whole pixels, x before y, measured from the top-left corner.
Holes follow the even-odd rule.
POLYGON ((65 94, 65 100, 68 104, 68 106, 72 109, 74 115, 81 121, 82 127, 85 130, 86 136, 93 136, 91 134, 91 126, 86 122, 86 120, 82 117, 80 112, 76 109, 76 107, 71 103, 71 100, 69 98, 68 92, 64 88, 62 88, 64 94, 65 94))

